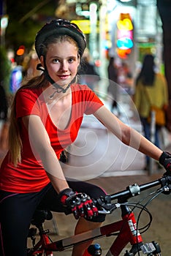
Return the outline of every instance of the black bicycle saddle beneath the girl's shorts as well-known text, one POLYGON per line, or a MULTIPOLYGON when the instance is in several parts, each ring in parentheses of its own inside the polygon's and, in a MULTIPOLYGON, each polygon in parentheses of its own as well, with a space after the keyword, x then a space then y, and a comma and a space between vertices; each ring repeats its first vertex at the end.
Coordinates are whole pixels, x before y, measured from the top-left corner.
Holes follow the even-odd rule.
POLYGON ((51 213, 51 211, 36 210, 34 212, 33 218, 31 219, 31 224, 37 226, 45 222, 45 220, 50 220, 50 219, 53 219, 53 214, 51 213))

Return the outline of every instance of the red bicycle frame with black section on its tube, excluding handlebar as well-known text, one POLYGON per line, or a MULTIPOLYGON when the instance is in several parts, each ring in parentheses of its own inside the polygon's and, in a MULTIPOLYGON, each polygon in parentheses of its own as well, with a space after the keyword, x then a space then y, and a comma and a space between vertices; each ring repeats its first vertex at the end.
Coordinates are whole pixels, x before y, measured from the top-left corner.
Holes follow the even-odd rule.
MULTIPOLYGON (((110 236, 113 233, 119 232, 117 238, 115 238, 115 241, 113 242, 113 245, 110 247, 109 252, 107 252, 107 256, 118 256, 129 242, 138 251, 140 249, 140 245, 142 245, 142 237, 140 236, 140 232, 137 230, 134 213, 129 210, 128 206, 121 206, 121 209, 122 213, 124 212, 123 219, 121 221, 104 225, 103 227, 96 228, 95 230, 55 242, 50 242, 47 234, 44 233, 42 234, 41 240, 37 243, 35 249, 39 253, 43 252, 44 249, 45 255, 50 255, 52 252, 63 251, 75 244, 81 244, 85 241, 110 236)), ((36 252, 32 253, 32 255, 36 254, 36 252)))

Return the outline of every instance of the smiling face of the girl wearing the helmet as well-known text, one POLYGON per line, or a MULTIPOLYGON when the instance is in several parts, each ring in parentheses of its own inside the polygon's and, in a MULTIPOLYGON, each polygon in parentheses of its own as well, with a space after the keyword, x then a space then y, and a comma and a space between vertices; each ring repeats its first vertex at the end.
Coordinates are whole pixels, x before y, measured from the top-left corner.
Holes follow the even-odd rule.
MULTIPOLYGON (((43 57, 40 59, 43 66, 43 57)), ((47 71, 59 86, 67 86, 77 75, 80 64, 78 49, 71 42, 50 44, 46 54, 47 71)))

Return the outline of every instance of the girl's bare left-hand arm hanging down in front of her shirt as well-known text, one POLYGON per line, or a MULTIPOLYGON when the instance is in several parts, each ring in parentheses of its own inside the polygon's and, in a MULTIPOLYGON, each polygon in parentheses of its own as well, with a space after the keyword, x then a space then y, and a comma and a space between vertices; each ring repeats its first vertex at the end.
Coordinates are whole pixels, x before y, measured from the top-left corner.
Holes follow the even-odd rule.
POLYGON ((39 116, 25 116, 23 117, 23 124, 28 130, 34 155, 41 159, 42 165, 56 192, 68 188, 69 186, 64 177, 61 165, 58 162, 55 151, 53 151, 50 145, 49 136, 39 116))

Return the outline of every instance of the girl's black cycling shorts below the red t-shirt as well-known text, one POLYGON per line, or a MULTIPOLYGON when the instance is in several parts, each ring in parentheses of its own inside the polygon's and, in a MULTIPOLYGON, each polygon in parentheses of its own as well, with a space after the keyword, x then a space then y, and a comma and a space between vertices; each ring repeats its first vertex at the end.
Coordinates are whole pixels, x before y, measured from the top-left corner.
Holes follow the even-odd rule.
MULTIPOLYGON (((103 189, 83 181, 68 181, 69 187, 77 192, 85 192, 94 199, 106 195, 103 189)), ((56 212, 66 212, 61 205, 58 194, 51 184, 40 192, 12 193, 0 190, 0 256, 26 256, 28 229, 34 211, 47 209, 56 212), (10 242, 9 242, 10 241, 10 242)), ((99 214, 91 222, 104 222, 105 215, 99 214)))

